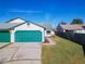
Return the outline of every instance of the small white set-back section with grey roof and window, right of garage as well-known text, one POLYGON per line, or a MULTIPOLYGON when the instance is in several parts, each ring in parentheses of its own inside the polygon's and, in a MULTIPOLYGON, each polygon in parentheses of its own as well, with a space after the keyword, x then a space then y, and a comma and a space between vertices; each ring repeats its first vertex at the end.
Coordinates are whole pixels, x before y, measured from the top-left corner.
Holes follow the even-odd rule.
POLYGON ((51 24, 43 24, 42 26, 45 28, 45 37, 52 37, 55 35, 51 24))

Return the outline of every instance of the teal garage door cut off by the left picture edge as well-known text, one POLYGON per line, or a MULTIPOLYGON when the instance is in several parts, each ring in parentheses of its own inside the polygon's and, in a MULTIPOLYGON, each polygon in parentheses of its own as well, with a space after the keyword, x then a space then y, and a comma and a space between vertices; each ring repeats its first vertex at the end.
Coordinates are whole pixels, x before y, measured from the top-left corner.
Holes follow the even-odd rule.
POLYGON ((11 34, 9 31, 0 31, 0 42, 10 42, 11 34))

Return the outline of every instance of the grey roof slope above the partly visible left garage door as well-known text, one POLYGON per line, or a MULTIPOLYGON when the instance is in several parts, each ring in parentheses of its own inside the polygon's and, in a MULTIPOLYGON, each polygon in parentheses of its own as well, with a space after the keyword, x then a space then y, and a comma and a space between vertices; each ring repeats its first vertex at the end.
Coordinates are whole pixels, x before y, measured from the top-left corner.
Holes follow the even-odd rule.
MULTIPOLYGON (((24 24, 24 23, 22 23, 24 24)), ((14 23, 0 23, 0 29, 10 29, 10 28, 14 28, 18 25, 22 25, 22 24, 14 24, 14 23)))

